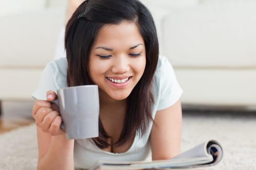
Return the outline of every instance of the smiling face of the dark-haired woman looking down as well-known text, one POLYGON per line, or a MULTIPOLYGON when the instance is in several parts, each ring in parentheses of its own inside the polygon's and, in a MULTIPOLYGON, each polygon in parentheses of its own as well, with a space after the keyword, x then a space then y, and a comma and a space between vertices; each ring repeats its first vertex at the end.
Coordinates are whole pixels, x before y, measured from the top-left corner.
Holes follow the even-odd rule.
POLYGON ((104 25, 92 46, 89 71, 100 95, 126 99, 146 66, 144 40, 135 23, 104 25))

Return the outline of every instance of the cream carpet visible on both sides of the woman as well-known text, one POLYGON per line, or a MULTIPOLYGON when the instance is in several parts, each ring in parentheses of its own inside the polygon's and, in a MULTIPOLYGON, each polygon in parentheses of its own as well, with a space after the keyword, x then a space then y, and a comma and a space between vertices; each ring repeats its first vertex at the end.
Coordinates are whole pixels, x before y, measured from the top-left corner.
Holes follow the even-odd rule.
MULTIPOLYGON (((211 170, 256 170, 256 113, 184 114, 181 150, 208 139, 224 150, 211 170)), ((0 170, 36 170, 37 154, 35 124, 0 135, 0 170)))

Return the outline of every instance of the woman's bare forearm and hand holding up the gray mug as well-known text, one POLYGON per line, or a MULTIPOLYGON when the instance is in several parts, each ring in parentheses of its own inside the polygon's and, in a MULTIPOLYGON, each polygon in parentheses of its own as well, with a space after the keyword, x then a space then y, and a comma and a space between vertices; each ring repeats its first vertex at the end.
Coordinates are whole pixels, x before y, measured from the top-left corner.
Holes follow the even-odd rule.
MULTIPOLYGON (((48 101, 56 98, 52 91, 47 94, 48 101)), ((36 101, 32 110, 37 124, 38 170, 74 170, 74 140, 66 139, 60 129, 59 112, 53 110, 48 101, 36 101)))

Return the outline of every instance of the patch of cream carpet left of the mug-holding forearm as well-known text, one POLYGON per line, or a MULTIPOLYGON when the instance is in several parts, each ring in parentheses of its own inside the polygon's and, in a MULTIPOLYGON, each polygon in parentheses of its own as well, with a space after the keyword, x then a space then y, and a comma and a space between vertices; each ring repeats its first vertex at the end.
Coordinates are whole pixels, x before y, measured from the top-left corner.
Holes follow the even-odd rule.
POLYGON ((0 170, 36 170, 36 126, 31 124, 0 135, 0 170))

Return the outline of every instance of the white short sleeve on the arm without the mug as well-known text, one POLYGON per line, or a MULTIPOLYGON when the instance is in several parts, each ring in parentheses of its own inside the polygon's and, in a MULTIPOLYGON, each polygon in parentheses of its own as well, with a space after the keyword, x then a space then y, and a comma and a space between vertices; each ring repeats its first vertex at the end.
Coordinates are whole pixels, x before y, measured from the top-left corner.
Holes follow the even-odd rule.
POLYGON ((159 56, 155 74, 155 92, 157 93, 157 110, 165 109, 178 101, 183 90, 177 82, 174 69, 168 59, 159 56))

